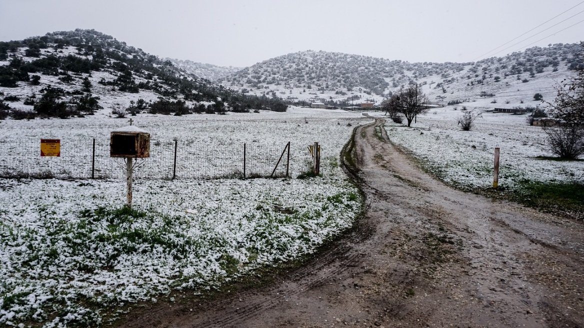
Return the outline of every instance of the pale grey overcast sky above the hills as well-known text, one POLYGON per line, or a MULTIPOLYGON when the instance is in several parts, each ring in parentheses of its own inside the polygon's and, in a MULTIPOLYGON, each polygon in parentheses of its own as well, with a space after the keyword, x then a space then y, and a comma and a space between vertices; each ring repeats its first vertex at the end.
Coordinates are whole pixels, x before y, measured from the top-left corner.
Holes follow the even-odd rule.
POLYGON ((574 25, 584 20, 582 2, 0 0, 0 41, 81 28, 159 57, 220 66, 246 67, 303 50, 468 62, 523 50, 536 41, 529 47, 584 40, 584 22, 574 25))

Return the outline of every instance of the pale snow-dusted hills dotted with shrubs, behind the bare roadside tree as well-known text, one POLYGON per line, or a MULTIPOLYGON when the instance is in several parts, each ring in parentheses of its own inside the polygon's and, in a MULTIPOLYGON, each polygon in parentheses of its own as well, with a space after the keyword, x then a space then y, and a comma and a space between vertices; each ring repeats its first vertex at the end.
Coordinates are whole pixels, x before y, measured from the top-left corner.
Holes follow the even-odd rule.
POLYGON ((415 62, 301 51, 259 62, 227 76, 228 88, 290 102, 381 102, 401 86, 420 83, 437 103, 490 99, 509 105, 552 99, 555 81, 582 64, 580 44, 554 44, 478 62, 415 62))

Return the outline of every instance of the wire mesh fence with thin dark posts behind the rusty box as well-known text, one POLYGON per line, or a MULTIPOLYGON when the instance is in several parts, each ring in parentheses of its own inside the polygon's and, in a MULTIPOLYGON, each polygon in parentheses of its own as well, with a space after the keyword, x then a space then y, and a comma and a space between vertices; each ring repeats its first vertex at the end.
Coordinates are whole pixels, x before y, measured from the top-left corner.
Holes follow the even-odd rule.
MULTIPOLYGON (((292 176, 307 158, 289 144, 207 145, 192 139, 156 139, 150 158, 137 159, 135 179, 213 179, 292 176)), ((110 157, 109 139, 61 139, 58 157, 40 156, 40 139, 0 139, 0 177, 124 179, 123 158, 110 157)))

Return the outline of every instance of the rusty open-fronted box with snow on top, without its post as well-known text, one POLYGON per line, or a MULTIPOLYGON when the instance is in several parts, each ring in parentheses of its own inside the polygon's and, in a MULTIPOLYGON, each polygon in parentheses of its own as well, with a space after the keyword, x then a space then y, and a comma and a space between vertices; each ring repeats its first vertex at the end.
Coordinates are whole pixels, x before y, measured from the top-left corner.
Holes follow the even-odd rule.
POLYGON ((110 157, 150 157, 150 133, 135 125, 128 125, 112 131, 110 157))

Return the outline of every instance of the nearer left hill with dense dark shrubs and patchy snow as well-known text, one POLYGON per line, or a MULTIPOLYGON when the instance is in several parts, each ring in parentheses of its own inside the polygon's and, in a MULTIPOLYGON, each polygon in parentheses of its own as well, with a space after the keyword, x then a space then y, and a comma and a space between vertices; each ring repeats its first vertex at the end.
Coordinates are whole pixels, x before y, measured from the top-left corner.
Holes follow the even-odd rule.
POLYGON ((154 102, 165 114, 271 109, 278 103, 214 85, 112 36, 81 29, 0 42, 0 100, 0 118, 140 113, 154 102))

